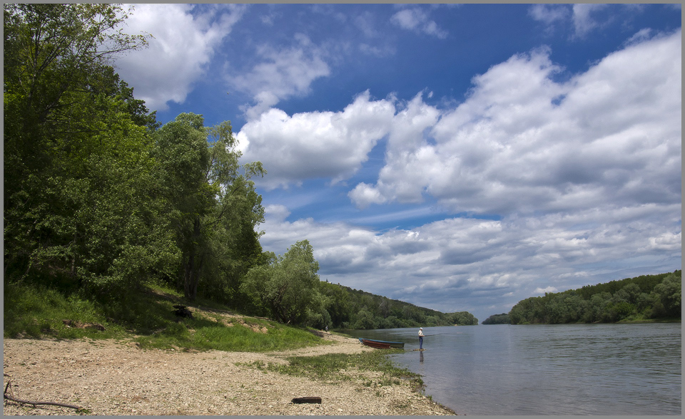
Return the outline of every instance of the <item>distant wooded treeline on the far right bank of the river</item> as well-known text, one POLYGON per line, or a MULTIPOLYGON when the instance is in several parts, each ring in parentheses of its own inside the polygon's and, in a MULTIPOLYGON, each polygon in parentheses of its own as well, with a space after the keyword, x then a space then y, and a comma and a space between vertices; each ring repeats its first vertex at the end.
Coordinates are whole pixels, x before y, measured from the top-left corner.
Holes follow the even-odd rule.
POLYGON ((519 301, 483 324, 612 323, 681 317, 681 271, 586 285, 519 301))

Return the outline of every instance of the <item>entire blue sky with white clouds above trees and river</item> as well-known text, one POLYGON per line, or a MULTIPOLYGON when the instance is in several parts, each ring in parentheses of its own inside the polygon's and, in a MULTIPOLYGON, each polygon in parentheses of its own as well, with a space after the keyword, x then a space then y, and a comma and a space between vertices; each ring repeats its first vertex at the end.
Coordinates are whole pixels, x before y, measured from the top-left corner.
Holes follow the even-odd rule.
POLYGON ((137 4, 118 73, 230 120, 264 250, 479 321, 681 269, 680 4, 137 4))

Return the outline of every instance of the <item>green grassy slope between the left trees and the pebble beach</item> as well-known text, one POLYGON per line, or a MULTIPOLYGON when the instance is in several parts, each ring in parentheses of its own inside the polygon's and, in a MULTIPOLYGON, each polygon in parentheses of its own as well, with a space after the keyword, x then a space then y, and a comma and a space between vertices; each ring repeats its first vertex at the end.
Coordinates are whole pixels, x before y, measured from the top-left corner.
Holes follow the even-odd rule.
POLYGON ((54 287, 4 284, 3 334, 5 338, 115 338, 137 341, 143 348, 197 351, 279 351, 322 343, 306 329, 231 316, 228 307, 202 299, 189 303, 178 292, 158 285, 119 299, 93 301, 54 287), (175 304, 190 307, 193 319, 178 318, 175 304))

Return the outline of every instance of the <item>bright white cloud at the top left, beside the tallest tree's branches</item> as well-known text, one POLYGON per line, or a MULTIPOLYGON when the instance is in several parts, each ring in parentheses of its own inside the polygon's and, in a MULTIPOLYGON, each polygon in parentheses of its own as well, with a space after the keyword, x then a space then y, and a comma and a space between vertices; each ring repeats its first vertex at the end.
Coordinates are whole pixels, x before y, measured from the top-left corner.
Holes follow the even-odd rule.
POLYGON ((183 103, 205 73, 220 41, 240 20, 245 6, 136 4, 126 20, 127 33, 151 33, 149 48, 118 58, 121 78, 135 88, 136 98, 151 110, 167 102, 183 103))

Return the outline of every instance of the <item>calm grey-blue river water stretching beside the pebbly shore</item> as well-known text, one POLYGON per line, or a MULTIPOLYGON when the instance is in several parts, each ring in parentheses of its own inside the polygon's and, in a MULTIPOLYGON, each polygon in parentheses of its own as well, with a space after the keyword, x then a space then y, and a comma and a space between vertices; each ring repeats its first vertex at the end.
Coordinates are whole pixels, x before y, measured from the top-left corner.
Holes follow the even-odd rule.
MULTIPOLYGON (((350 332, 347 332, 350 333, 350 332)), ((466 415, 681 415, 681 324, 479 325, 352 331, 466 415)))

